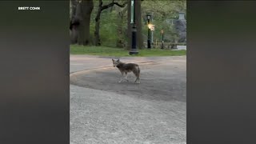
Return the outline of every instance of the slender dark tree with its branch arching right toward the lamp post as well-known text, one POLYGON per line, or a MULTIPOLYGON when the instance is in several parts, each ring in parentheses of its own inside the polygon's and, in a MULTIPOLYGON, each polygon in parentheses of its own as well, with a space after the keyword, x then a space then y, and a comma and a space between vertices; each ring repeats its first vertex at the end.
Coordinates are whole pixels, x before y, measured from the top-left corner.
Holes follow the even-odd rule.
POLYGON ((104 6, 102 6, 102 5, 103 5, 102 0, 98 0, 98 11, 97 11, 97 15, 95 18, 95 31, 94 31, 96 46, 101 46, 99 30, 100 30, 100 18, 101 18, 102 10, 106 10, 114 5, 119 6, 119 7, 124 7, 124 6, 126 6, 126 2, 122 5, 120 5, 118 2, 114 2, 114 0, 113 0, 112 2, 110 2, 107 5, 104 5, 104 6))

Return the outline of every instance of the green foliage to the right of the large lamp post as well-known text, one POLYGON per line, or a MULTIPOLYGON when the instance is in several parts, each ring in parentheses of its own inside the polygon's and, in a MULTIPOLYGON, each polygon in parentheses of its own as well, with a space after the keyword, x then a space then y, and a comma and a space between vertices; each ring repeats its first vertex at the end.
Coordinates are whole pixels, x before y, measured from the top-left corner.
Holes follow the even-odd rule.
MULTIPOLYGON (((154 42, 162 41, 161 30, 164 30, 165 42, 173 42, 175 38, 172 20, 178 18, 178 12, 186 10, 186 1, 153 1, 144 0, 142 2, 142 17, 146 21, 146 14, 153 15, 154 42)), ((147 34, 146 22, 143 22, 143 34, 147 34)), ((152 19, 150 20, 152 21, 152 19)), ((147 37, 146 35, 144 36, 147 37)))

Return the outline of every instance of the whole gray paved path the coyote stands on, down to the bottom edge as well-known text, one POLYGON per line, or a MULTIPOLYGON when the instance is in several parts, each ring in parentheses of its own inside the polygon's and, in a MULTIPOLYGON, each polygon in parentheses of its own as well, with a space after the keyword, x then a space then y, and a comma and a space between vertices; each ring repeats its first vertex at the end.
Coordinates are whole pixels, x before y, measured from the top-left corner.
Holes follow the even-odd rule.
POLYGON ((121 60, 142 62, 141 84, 119 84, 111 58, 70 56, 70 142, 186 143, 186 57, 121 60))

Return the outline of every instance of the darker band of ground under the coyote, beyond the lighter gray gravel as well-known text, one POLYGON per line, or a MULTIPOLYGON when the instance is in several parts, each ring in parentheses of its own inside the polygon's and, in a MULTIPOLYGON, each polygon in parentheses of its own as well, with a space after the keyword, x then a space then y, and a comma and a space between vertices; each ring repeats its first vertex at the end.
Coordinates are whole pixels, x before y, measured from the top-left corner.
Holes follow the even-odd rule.
POLYGON ((132 73, 128 74, 129 82, 118 83, 121 74, 113 66, 72 74, 70 84, 134 95, 135 98, 186 102, 186 62, 165 59, 138 64, 141 69, 140 84, 134 84, 132 73))

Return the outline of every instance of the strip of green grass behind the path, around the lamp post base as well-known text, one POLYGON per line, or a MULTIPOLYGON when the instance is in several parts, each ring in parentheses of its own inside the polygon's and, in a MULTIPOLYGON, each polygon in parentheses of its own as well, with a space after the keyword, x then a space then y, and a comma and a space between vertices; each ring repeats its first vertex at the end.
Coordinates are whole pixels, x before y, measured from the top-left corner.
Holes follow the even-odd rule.
MULTIPOLYGON (((89 55, 99 55, 99 56, 117 56, 124 57, 130 56, 129 50, 123 50, 121 48, 113 48, 106 46, 70 46, 70 54, 89 54, 89 55)), ((139 57, 150 57, 150 56, 179 56, 186 55, 186 50, 161 50, 161 49, 143 49, 138 50, 137 55, 139 57)))

